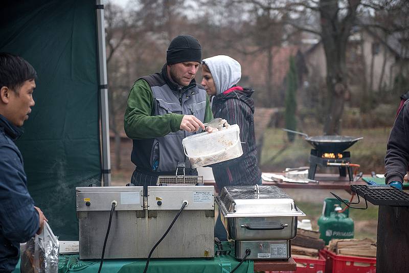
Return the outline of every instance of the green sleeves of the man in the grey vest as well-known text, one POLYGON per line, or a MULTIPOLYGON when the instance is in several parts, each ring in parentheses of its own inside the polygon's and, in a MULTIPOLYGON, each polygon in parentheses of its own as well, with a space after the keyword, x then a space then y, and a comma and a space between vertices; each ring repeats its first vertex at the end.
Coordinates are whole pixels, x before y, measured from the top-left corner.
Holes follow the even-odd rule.
MULTIPOLYGON (((153 116, 154 105, 149 84, 143 79, 136 81, 129 91, 124 116, 125 133, 129 138, 151 139, 180 130, 184 115, 169 113, 153 116)), ((211 119, 213 119, 213 113, 207 96, 204 122, 209 122, 211 119)))

